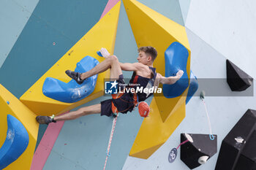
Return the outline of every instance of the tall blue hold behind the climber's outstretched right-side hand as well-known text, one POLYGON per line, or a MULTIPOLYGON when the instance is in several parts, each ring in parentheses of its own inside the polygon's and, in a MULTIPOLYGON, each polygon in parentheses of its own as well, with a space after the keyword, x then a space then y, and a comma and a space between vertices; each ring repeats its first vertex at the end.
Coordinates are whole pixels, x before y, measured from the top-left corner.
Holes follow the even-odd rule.
POLYGON ((179 70, 183 70, 184 74, 181 79, 173 85, 163 85, 163 93, 166 98, 176 98, 180 96, 189 86, 189 78, 187 75, 187 58, 189 52, 186 47, 179 42, 173 42, 167 50, 165 50, 165 77, 176 76, 179 70))

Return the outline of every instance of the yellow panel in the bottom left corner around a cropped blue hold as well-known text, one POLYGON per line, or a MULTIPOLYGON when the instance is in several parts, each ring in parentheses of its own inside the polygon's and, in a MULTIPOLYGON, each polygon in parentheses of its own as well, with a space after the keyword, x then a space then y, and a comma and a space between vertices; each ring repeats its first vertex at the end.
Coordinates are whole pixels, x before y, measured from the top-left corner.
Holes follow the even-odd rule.
MULTIPOLYGON (((29 133, 29 145, 20 157, 11 163, 6 170, 30 169, 34 149, 37 144, 37 133, 39 124, 31 112, 18 98, 12 95, 10 91, 0 84, 0 147, 4 144, 7 136, 7 115, 16 117, 29 133), (7 104, 9 101, 10 104, 7 104)), ((4 169, 4 170, 5 170, 4 169)))

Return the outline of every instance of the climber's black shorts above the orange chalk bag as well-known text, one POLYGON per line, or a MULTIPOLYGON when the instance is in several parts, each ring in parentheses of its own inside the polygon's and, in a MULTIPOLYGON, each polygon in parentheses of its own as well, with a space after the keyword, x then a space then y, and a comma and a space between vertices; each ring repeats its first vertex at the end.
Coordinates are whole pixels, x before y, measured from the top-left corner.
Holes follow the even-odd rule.
MULTIPOLYGON (((121 74, 118 78, 118 85, 120 84, 122 84, 122 87, 124 87, 125 82, 123 74, 121 74)), ((135 107, 133 94, 124 93, 120 98, 111 98, 105 101, 101 101, 101 116, 106 115, 110 117, 111 115, 113 115, 112 102, 114 106, 118 109, 118 111, 121 113, 127 113, 128 111, 132 112, 133 108, 135 107)))

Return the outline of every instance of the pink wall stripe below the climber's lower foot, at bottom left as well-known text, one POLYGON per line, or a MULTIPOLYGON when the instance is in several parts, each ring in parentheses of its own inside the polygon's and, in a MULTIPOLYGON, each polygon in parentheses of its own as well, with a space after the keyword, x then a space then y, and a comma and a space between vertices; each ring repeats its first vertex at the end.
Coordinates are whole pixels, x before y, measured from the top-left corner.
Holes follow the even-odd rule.
POLYGON ((34 152, 30 170, 43 169, 63 125, 64 121, 50 123, 48 125, 48 128, 46 129, 45 134, 42 136, 36 152, 34 152))

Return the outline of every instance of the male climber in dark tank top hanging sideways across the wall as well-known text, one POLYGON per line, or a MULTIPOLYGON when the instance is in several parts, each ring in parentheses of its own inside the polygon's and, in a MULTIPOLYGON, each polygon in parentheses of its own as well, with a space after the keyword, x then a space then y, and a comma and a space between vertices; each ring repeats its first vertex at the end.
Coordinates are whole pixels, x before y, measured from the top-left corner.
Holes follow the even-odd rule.
MULTIPOLYGON (((100 53, 105 58, 104 61, 99 63, 93 69, 88 72, 78 73, 66 71, 66 74, 74 79, 78 84, 82 84, 86 78, 91 77, 95 74, 105 72, 110 69, 110 80, 116 80, 118 85, 122 88, 148 88, 158 87, 159 83, 162 84, 174 84, 184 74, 182 70, 176 73, 174 77, 163 77, 161 74, 156 72, 153 67, 154 60, 157 58, 157 50, 154 47, 140 47, 138 49, 138 62, 137 63, 120 63, 116 55, 110 55, 108 50, 102 48, 100 53), (122 74, 124 71, 133 71, 132 79, 129 81, 129 85, 124 86, 124 77, 122 74)), ((136 104, 140 101, 145 101, 146 98, 151 96, 153 93, 118 93, 112 95, 113 98, 101 101, 100 104, 94 104, 89 107, 82 107, 74 112, 69 112, 64 115, 58 116, 37 116, 37 122, 41 124, 48 124, 59 120, 73 120, 84 115, 91 115, 100 113, 110 117, 118 112, 127 113, 132 112, 136 104)))

